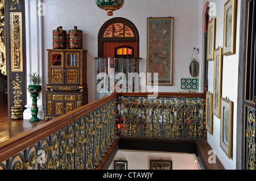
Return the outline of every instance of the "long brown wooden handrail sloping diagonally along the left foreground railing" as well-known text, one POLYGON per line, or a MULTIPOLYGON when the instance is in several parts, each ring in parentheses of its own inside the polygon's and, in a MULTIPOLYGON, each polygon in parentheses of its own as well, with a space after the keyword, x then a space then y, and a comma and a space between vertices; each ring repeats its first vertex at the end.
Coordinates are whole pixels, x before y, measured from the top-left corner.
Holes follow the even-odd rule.
POLYGON ((17 136, 10 138, 9 140, 1 142, 0 162, 6 161, 20 151, 23 151, 33 144, 36 144, 52 133, 59 131, 67 125, 80 119, 80 117, 85 116, 103 104, 108 103, 110 100, 117 98, 117 96, 117 93, 110 94, 104 98, 98 99, 92 103, 77 108, 76 110, 65 113, 65 115, 61 115, 56 119, 38 125, 37 127, 32 128, 26 132, 20 133, 17 136))

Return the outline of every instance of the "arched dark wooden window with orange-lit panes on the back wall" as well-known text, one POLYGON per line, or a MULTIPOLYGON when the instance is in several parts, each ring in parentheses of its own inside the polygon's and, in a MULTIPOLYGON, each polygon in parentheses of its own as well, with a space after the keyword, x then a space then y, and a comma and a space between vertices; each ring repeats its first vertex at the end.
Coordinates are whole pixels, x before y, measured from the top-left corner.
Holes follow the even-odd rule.
POLYGON ((139 57, 138 30, 130 20, 113 18, 98 33, 98 57, 139 57))

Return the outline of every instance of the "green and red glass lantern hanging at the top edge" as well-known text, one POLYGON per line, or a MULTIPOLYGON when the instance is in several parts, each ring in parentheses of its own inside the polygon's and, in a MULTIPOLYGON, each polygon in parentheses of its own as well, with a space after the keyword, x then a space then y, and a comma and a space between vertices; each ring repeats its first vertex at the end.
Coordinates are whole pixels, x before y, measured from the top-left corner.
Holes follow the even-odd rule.
POLYGON ((125 0, 96 0, 96 5, 102 10, 108 11, 108 15, 112 16, 113 11, 121 9, 125 0))

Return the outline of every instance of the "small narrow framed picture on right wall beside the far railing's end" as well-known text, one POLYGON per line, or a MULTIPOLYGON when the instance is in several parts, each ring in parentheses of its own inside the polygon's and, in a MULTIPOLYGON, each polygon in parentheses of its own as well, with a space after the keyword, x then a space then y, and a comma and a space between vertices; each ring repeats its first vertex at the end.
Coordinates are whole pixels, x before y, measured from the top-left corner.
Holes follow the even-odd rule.
POLYGON ((213 134, 213 112, 212 112, 212 94, 207 92, 206 98, 206 120, 207 120, 207 131, 213 134))

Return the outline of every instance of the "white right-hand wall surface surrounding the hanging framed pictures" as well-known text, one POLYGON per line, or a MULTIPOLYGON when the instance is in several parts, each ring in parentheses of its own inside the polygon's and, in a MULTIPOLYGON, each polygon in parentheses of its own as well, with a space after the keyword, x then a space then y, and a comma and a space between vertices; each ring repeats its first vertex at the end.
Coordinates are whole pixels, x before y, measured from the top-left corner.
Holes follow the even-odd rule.
MULTIPOLYGON (((204 5, 207 1, 200 1, 200 17, 204 13, 204 5)), ((224 28, 224 5, 226 0, 211 0, 216 4, 216 48, 223 47, 223 28, 224 28)), ((208 133, 208 142, 213 150, 216 151, 225 169, 236 169, 236 127, 237 127, 237 95, 238 95, 238 57, 239 57, 239 40, 240 40, 240 5, 238 0, 237 7, 237 34, 236 34, 236 54, 223 57, 222 69, 222 97, 228 98, 234 102, 234 120, 233 120, 233 158, 229 159, 220 147, 220 119, 213 115, 213 135, 208 133)), ((201 22, 201 20, 200 20, 201 22)), ((201 26, 201 25, 200 25, 201 26)), ((204 33, 201 32, 201 39, 204 33)), ((200 40, 203 43, 203 40, 200 40)), ((213 93, 213 72, 214 61, 209 61, 208 65, 208 91, 213 93)))

